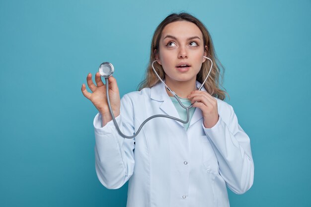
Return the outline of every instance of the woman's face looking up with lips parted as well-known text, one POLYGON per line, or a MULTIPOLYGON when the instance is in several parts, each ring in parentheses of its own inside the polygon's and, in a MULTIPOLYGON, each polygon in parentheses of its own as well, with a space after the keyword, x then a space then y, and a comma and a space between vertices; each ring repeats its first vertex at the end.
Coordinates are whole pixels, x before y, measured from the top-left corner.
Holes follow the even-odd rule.
POLYGON ((167 24, 161 34, 158 63, 165 72, 165 81, 194 81, 205 61, 207 47, 197 25, 189 21, 167 24))

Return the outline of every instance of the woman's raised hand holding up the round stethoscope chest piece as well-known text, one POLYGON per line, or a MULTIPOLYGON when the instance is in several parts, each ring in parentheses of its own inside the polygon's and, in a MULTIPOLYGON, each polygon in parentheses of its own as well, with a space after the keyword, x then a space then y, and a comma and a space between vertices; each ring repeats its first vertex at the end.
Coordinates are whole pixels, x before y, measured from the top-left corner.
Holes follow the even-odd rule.
MULTIPOLYGON (((109 98, 112 111, 114 116, 117 117, 120 115, 120 94, 117 81, 114 77, 110 76, 109 81, 109 98)), ((101 113, 102 116, 102 126, 105 126, 109 121, 112 120, 112 117, 109 112, 107 96, 106 96, 106 85, 102 82, 99 72, 95 74, 96 85, 92 81, 92 74, 88 73, 86 76, 86 82, 89 89, 92 93, 88 92, 85 88, 84 83, 82 84, 81 91, 83 95, 89 99, 96 109, 101 113)))

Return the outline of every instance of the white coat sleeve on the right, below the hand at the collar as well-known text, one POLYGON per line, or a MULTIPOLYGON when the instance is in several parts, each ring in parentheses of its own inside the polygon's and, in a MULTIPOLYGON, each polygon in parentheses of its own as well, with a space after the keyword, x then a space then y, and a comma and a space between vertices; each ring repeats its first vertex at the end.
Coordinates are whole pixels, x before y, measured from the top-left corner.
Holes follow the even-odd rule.
POLYGON ((228 106, 229 118, 225 119, 229 114, 219 113, 214 127, 203 128, 217 156, 220 175, 234 193, 243 194, 253 184, 254 163, 250 140, 239 126, 232 106, 228 106))

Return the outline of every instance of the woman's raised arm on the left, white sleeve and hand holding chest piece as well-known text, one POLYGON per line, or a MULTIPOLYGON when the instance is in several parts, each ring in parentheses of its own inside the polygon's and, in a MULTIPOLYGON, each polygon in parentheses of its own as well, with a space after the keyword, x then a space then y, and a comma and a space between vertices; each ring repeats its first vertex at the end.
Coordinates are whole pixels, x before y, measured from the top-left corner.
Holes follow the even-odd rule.
MULTIPOLYGON (((125 139, 118 135, 109 112, 106 96, 106 85, 99 72, 95 75, 96 85, 89 73, 87 85, 92 93, 82 84, 82 94, 89 99, 99 113, 94 119, 95 129, 95 169, 99 181, 109 189, 120 188, 131 177, 134 170, 134 139, 125 139)), ((120 106, 120 95, 117 81, 109 77, 109 96, 111 107, 118 125, 125 134, 134 133, 133 104, 129 98, 123 98, 120 106), (123 109, 123 111, 122 111, 123 109), (126 110, 127 109, 127 110, 126 110), (120 115, 120 110, 122 115, 120 115)))

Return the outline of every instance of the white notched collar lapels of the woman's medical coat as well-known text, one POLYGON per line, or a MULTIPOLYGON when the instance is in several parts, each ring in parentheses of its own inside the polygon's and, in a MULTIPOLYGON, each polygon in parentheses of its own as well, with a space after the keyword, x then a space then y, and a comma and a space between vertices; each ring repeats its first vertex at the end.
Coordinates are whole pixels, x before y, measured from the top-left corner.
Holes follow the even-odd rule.
MULTIPOLYGON (((200 86, 202 85, 200 82, 196 81, 196 85, 197 88, 200 88, 200 86)), ((204 87, 202 87, 203 91, 206 91, 204 87)), ((151 94, 150 94, 150 98, 159 102, 162 102, 159 105, 159 108, 166 113, 169 116, 172 117, 177 117, 179 118, 179 114, 174 106, 174 104, 172 103, 172 101, 170 100, 166 89, 165 89, 165 85, 162 82, 158 82, 155 86, 151 87, 151 94)), ((190 124, 189 127, 191 127, 191 125, 193 125, 194 123, 196 123, 197 121, 201 120, 202 117, 202 111, 199 108, 196 108, 194 111, 194 114, 190 120, 190 124)), ((183 127, 183 124, 181 122, 176 121, 178 124, 180 124, 183 127)))

